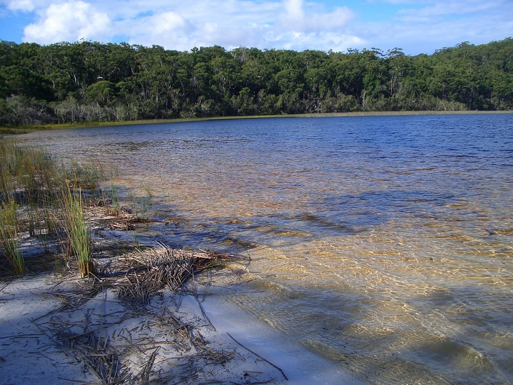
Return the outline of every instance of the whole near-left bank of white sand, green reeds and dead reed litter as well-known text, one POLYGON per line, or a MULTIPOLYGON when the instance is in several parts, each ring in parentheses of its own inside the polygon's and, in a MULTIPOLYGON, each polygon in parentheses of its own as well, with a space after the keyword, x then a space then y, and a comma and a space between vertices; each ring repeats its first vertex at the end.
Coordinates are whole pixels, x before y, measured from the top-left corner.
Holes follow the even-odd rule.
POLYGON ((258 353, 216 335, 187 283, 228 263, 239 277, 249 257, 121 236, 152 219, 113 184, 102 190, 98 182, 108 178, 101 165, 65 165, 0 140, 0 377, 33 382, 37 367, 58 384, 286 379, 258 353), (195 302, 182 306, 187 298, 195 302))

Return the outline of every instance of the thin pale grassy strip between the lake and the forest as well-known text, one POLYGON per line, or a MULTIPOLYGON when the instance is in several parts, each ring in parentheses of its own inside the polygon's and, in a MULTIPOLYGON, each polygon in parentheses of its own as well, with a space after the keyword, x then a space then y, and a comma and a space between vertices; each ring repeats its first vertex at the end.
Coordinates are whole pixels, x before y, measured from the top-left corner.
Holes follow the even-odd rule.
POLYGON ((87 123, 55 123, 45 125, 24 125, 15 127, 0 127, 0 136, 29 133, 34 131, 61 130, 83 127, 104 127, 132 124, 160 124, 160 123, 185 123, 202 122, 209 120, 233 120, 233 119, 271 119, 271 118, 341 118, 341 117, 386 117, 386 116, 415 116, 415 115, 467 115, 467 114, 511 114, 513 110, 499 111, 354 111, 354 112, 326 112, 326 113, 301 113, 281 115, 247 115, 230 117, 206 117, 206 118, 175 118, 175 119, 146 119, 127 121, 87 122, 87 123))

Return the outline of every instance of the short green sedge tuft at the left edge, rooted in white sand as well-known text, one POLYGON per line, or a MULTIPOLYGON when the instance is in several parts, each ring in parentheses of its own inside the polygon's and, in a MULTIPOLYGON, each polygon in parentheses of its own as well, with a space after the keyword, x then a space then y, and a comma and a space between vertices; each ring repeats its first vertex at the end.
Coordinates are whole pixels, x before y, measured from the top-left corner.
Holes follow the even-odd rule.
POLYGON ((14 274, 25 274, 26 264, 19 247, 19 223, 16 211, 18 205, 13 200, 2 204, 0 209, 0 242, 14 274))

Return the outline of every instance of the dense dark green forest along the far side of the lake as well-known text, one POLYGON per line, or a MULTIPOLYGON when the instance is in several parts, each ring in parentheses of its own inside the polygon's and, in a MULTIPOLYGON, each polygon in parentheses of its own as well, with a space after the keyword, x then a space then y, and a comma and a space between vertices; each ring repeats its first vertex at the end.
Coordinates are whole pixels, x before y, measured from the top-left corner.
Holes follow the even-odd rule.
POLYGON ((513 38, 431 55, 0 41, 0 124, 511 110, 513 38))

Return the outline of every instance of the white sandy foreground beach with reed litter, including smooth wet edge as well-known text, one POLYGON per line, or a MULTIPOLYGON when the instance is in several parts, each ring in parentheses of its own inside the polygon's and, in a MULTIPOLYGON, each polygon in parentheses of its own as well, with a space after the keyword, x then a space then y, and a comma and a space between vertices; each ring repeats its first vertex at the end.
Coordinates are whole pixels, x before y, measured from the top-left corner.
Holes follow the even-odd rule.
MULTIPOLYGON (((127 233, 105 234, 98 263, 115 275, 105 250, 127 233)), ((357 383, 219 296, 165 288, 134 306, 118 291, 51 264, 2 279, 0 383, 357 383)))

